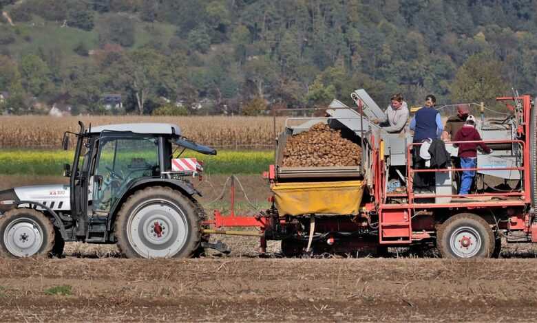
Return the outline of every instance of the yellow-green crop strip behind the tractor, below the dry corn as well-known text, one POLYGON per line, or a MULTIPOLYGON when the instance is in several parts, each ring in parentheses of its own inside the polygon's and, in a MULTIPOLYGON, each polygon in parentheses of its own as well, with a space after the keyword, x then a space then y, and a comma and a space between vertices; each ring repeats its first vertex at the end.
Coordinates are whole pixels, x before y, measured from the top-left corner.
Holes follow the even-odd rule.
MULTIPOLYGON (((274 164, 273 151, 218 151, 216 156, 185 151, 181 157, 204 161, 210 174, 260 174, 274 164)), ((0 174, 61 176, 63 164, 72 161, 72 151, 0 150, 0 174)))

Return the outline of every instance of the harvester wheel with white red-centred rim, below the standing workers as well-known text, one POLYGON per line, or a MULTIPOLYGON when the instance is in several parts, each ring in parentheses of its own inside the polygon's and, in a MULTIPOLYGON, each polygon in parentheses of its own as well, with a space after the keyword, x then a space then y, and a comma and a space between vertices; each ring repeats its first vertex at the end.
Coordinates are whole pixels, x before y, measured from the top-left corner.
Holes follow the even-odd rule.
POLYGON ((480 216, 456 214, 440 226, 436 247, 443 258, 490 258, 494 232, 480 216))

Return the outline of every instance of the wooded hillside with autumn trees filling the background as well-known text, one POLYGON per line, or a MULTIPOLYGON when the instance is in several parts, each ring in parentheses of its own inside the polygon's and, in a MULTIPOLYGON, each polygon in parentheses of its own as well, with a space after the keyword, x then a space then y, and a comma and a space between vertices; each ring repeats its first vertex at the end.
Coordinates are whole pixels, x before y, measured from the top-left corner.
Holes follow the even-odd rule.
POLYGON ((255 115, 534 93, 536 0, 0 0, 2 111, 255 115), (120 109, 103 97, 120 95, 120 109), (39 104, 36 104, 39 102, 39 104), (180 104, 176 104, 179 102, 180 104))

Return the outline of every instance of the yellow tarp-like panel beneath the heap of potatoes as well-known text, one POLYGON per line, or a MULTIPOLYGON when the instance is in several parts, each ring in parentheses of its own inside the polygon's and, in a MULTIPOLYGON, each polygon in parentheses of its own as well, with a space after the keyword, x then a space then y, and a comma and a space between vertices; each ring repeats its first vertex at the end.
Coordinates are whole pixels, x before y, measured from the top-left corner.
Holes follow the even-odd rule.
POLYGON ((364 195, 362 181, 274 183, 271 190, 282 216, 357 214, 364 195))

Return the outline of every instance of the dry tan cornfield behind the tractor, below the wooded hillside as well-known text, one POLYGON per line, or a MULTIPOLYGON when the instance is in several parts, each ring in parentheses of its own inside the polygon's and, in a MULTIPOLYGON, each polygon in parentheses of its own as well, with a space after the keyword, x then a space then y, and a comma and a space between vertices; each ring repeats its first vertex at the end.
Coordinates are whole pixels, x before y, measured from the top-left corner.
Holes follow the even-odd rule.
MULTIPOLYGON (((275 142, 272 117, 23 115, 0 117, 0 148, 59 148, 65 131, 78 132, 78 120, 86 127, 129 122, 178 124, 185 137, 215 148, 272 148, 275 142)), ((284 122, 285 118, 276 119, 276 133, 282 131, 284 122)))

